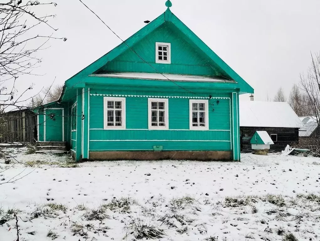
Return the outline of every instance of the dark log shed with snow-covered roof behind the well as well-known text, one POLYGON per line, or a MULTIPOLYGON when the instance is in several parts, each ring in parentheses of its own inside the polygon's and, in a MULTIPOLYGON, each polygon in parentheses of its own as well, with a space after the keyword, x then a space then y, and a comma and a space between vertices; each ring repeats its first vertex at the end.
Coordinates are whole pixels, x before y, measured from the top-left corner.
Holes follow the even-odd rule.
POLYGON ((251 152, 250 140, 256 131, 267 131, 274 145, 270 150, 281 151, 286 145, 299 143, 303 123, 286 102, 240 101, 240 149, 251 152))

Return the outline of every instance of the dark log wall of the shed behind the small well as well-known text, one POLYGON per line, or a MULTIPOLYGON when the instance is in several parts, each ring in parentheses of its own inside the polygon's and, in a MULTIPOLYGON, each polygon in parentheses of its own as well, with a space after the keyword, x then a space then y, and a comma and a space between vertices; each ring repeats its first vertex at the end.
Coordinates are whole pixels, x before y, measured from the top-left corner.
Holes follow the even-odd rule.
POLYGON ((273 127, 240 127, 240 142, 242 152, 252 152, 250 140, 254 133, 259 130, 265 130, 268 134, 277 134, 277 142, 270 145, 270 150, 281 151, 286 145, 299 143, 299 129, 298 128, 273 128, 273 127))

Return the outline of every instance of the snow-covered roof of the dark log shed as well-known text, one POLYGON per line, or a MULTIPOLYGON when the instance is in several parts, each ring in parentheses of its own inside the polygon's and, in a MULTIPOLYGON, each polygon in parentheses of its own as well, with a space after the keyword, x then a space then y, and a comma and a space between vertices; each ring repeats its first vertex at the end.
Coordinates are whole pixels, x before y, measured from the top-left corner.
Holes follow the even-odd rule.
POLYGON ((240 101, 240 126, 301 128, 303 123, 286 102, 240 101))

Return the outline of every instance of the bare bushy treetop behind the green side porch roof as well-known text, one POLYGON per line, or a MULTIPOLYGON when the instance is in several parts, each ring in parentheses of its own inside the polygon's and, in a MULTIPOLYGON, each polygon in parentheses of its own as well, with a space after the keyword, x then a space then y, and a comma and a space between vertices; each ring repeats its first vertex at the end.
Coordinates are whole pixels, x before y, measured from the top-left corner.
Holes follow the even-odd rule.
POLYGON ((41 92, 35 96, 29 106, 36 107, 47 104, 59 99, 62 93, 63 85, 52 85, 44 87, 41 92))

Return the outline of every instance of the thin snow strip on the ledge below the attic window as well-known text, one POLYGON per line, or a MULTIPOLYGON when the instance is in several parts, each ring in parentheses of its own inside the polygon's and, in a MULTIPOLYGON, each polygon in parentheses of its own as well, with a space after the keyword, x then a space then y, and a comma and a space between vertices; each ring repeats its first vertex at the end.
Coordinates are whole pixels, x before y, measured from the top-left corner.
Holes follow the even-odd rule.
POLYGON ((200 75, 183 75, 183 74, 120 72, 120 73, 92 74, 90 76, 107 77, 107 78, 122 78, 122 79, 151 79, 151 80, 168 80, 168 81, 170 79, 170 80, 174 80, 174 81, 185 81, 185 82, 235 83, 234 80, 224 79, 221 77, 200 76, 200 75))

